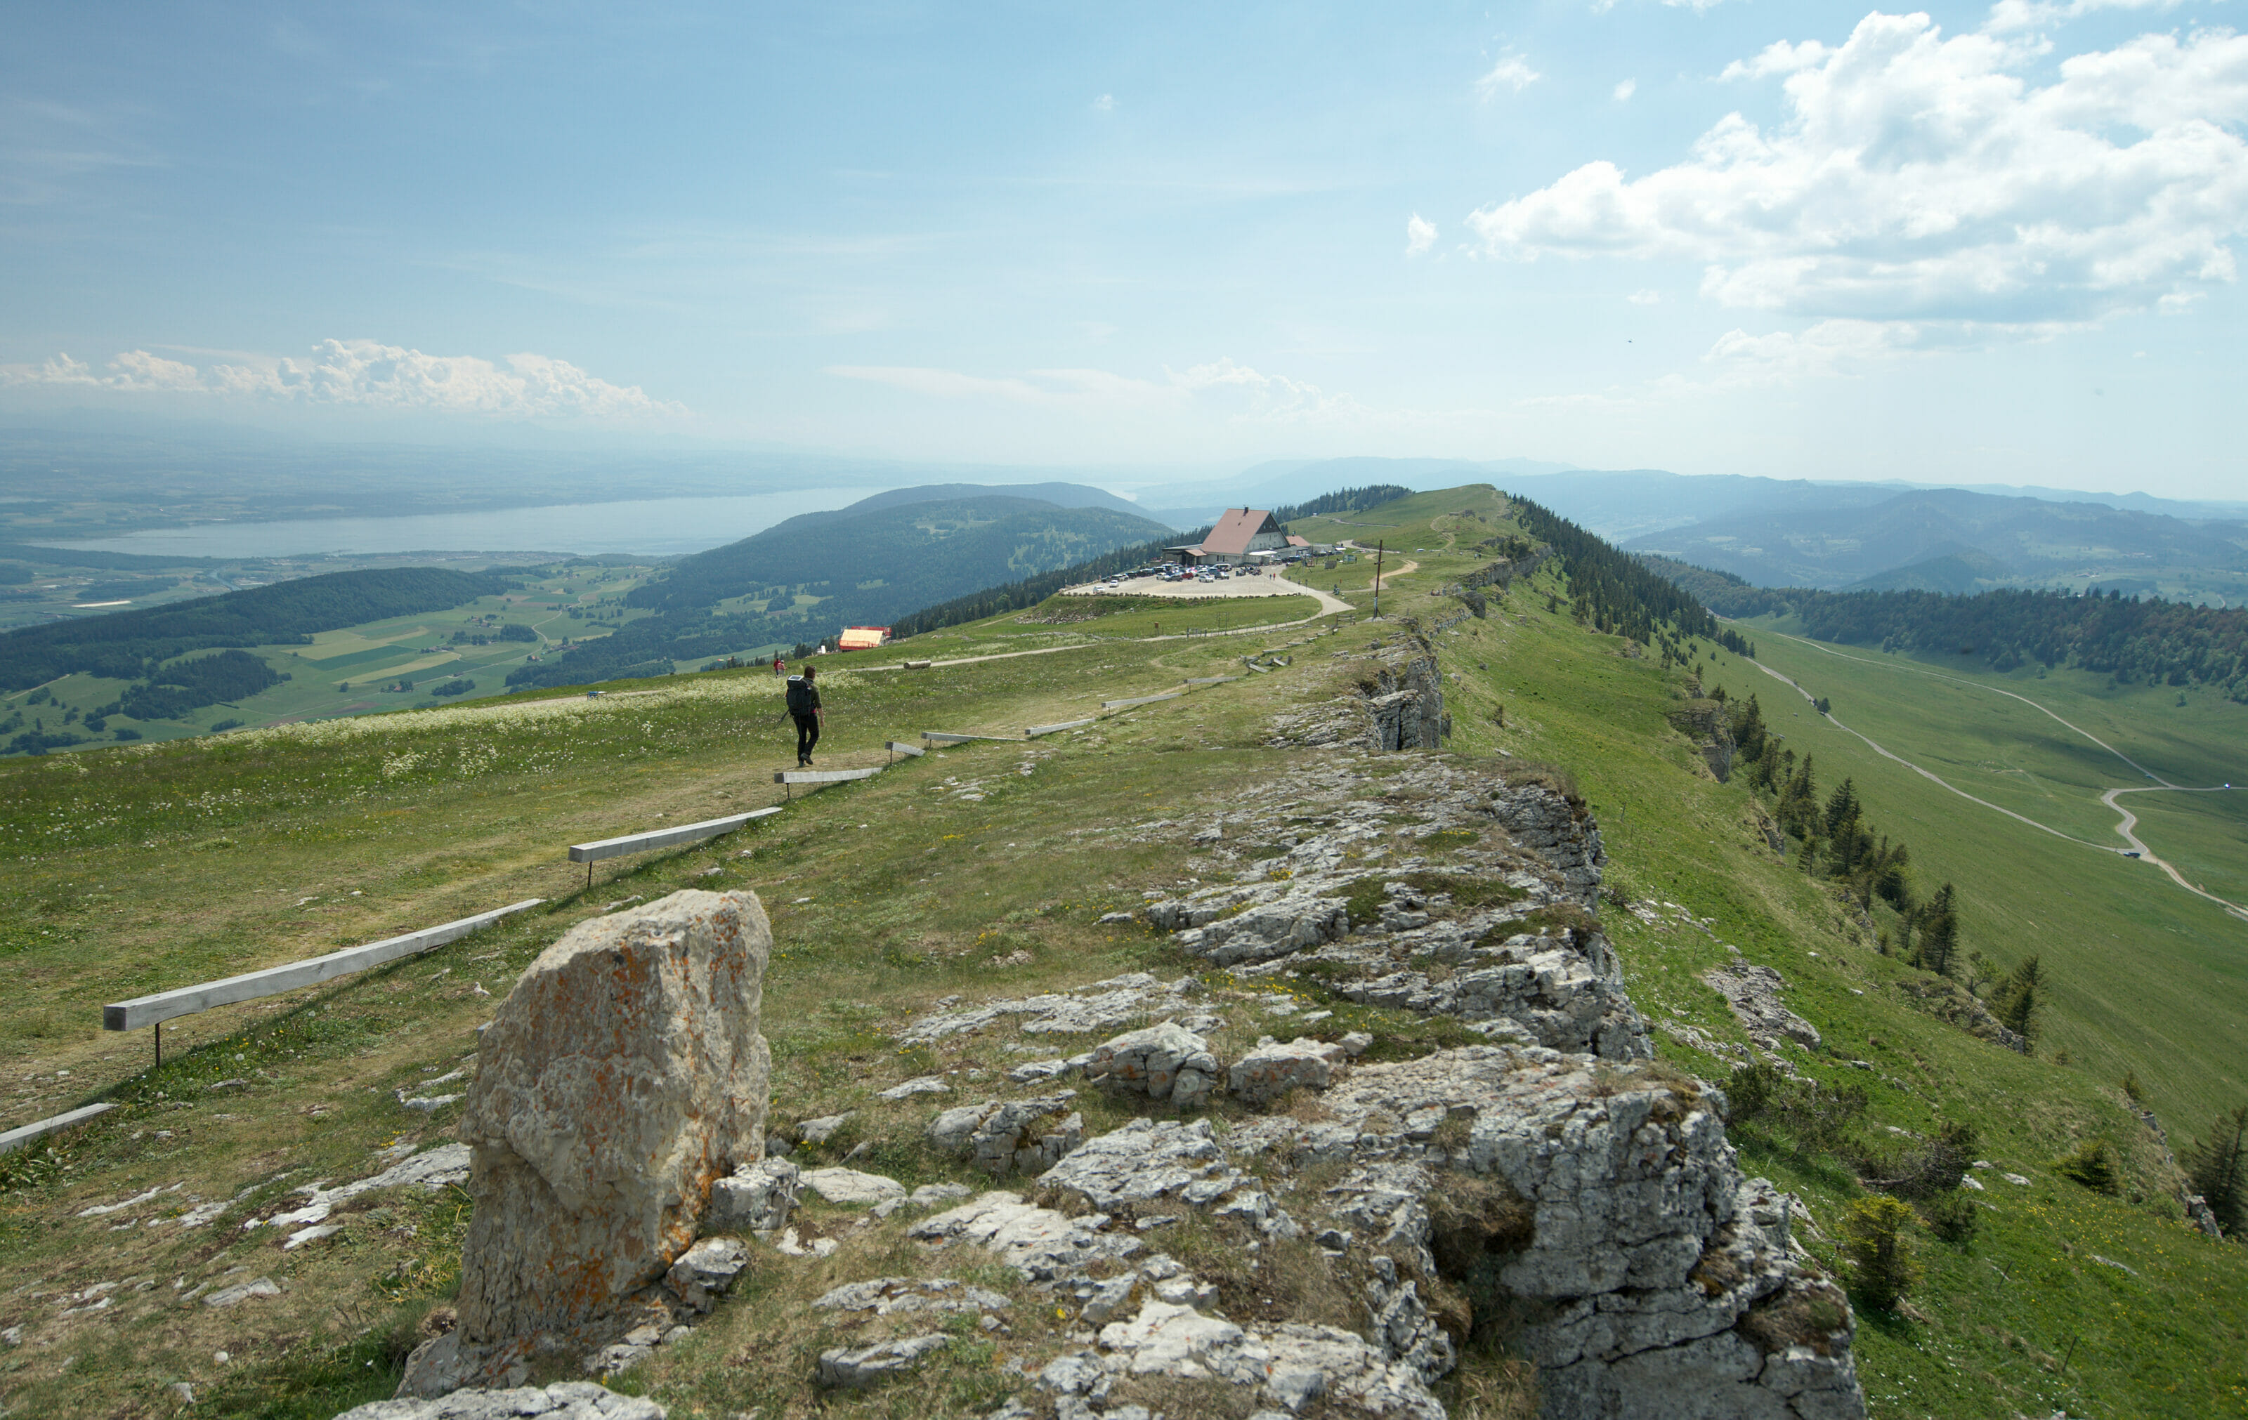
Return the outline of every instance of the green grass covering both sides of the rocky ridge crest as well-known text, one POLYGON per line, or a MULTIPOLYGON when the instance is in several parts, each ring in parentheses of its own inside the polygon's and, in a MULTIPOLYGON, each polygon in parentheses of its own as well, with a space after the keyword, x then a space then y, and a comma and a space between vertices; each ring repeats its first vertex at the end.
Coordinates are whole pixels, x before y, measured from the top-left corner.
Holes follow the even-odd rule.
MULTIPOLYGON (((1385 609, 1423 625, 1457 609, 1430 593, 1475 566, 1457 548, 1488 526, 1427 519, 1468 503, 1497 517, 1495 499, 1463 490, 1349 515, 1347 532, 1365 539, 1383 535, 1369 521, 1392 519, 1392 541, 1421 562, 1392 584, 1385 609)), ((1351 589, 1365 586, 1371 566, 1315 575, 1351 589)), ((1365 600, 1362 591, 1349 595, 1365 600)), ((906 652, 994 654, 1032 634, 1054 645, 1063 631, 996 618, 919 638, 906 652)), ((1726 959, 1722 941, 1738 944, 1787 975, 1789 1004, 1841 1056, 1877 1067, 1868 1076, 1846 1058, 1794 1052, 1807 1074, 1870 1081, 1884 1126, 1927 1130, 1938 1119, 1967 1119, 1983 1130, 1985 1157, 2032 1180, 2028 1189, 1992 1182, 1985 1198, 1994 1211, 1971 1249, 1922 1242, 1933 1265, 1931 1285, 1915 1296, 1922 1321, 1868 1317, 1861 1371, 1877 1416, 1996 1418, 2039 1404, 2102 1416, 2241 1409, 2241 1254, 2165 1218, 2151 1141, 2102 1078, 1992 1049, 1902 1004, 1888 982, 1904 971, 1855 939, 1832 896, 1774 861, 1747 829, 1747 791, 1695 773, 1690 748, 1664 723, 1677 672, 1628 661, 1614 638, 1547 613, 1540 589, 1517 586, 1493 620, 1463 622, 1439 640, 1454 753, 1513 753, 1571 768, 1601 811, 1612 883, 1632 899, 1668 899, 1711 919, 1686 926, 1661 912, 1646 923, 1607 912, 1643 1011, 1738 1040, 1722 1002, 1695 980, 1726 959), (1490 721, 1502 701, 1506 730, 1490 721), (2133 1182, 2149 1195, 2145 1207, 2091 1195, 2046 1168, 2086 1135, 2124 1146, 2133 1182), (2093 1251, 2136 1274, 2091 1263, 2093 1251)), ((1344 643, 1360 645, 1320 645, 1344 643)), ((834 674, 823 759, 877 762, 881 739, 919 728, 1075 719, 1104 697, 1218 674, 1261 645, 1257 636, 1106 640, 910 676, 834 674)), ((1182 840, 1104 840, 1088 854, 1077 834, 1227 804, 1245 784, 1315 759, 1261 748, 1261 726, 1288 703, 1331 694, 1340 674, 1306 647, 1290 672, 1133 710, 1088 735, 931 755, 863 786, 809 795, 744 836, 602 865, 591 894, 580 870, 562 861, 562 845, 778 793, 767 771, 785 764, 791 741, 773 723, 771 676, 726 672, 656 683, 656 694, 636 699, 517 697, 0 764, 0 802, 18 845, 0 885, 0 955, 18 984, 0 1002, 0 1063, 20 1081, 7 1123, 99 1094, 133 1101, 61 1148, 9 1164, 0 1326, 27 1323, 29 1335, 0 1359, 0 1395, 43 1416, 173 1413, 164 1386, 193 1380, 205 1386, 200 1413, 324 1418, 384 1393, 405 1341, 398 1328, 411 1328, 450 1292, 463 1200, 391 1195, 344 1216, 344 1236, 297 1254, 245 1236, 238 1218, 294 1182, 360 1177, 369 1150, 402 1132, 441 1137, 450 1112, 434 1121, 407 1114, 391 1090, 463 1056, 470 1027, 490 1011, 490 998, 465 982, 504 993, 569 923, 632 894, 690 883, 758 888, 780 944, 767 984, 776 1114, 859 1108, 883 1171, 906 1182, 964 1177, 913 1144, 910 1123, 926 1110, 879 1105, 870 1094, 931 1067, 1007 1061, 962 1054, 973 1045, 942 1058, 901 1054, 883 1031, 953 991, 1021 993, 1124 968, 1182 968, 1160 939, 1102 928, 1095 917, 1209 867, 1182 840), (1021 773, 1025 762, 1030 775, 1021 773), (960 798, 971 782, 980 802, 960 798), (722 872, 701 876, 708 867, 722 872), (166 1031, 166 1067, 155 1078, 142 1074, 144 1038, 92 1029, 103 1000, 528 894, 553 905, 324 991, 182 1020, 166 1031), (58 1078, 63 1069, 67 1078, 58 1078), (209 1085, 223 1078, 247 1085, 214 1094, 209 1085), (268 1182, 281 1171, 292 1173, 268 1182), (184 1236, 110 1231, 110 1218, 76 1218, 92 1202, 173 1182, 205 1198, 252 1193, 214 1227, 184 1236), (290 1299, 234 1312, 162 1305, 175 1276, 193 1287, 229 1267, 279 1278, 290 1299), (135 1290, 137 1278, 153 1287, 135 1290), (117 1292, 124 1301, 56 1319, 63 1294, 97 1281, 126 1283, 117 1292), (234 1357, 227 1366, 211 1359, 220 1348, 234 1357)), ((1868 786, 1866 798, 1877 820, 1902 813, 1884 789, 1868 786)), ((1924 872, 1949 872, 1918 834, 1913 847, 1924 872)), ((1971 912, 1969 930, 1974 921, 1971 912)), ((1396 1018, 1374 1025, 1401 1036, 1416 1029, 1396 1018)), ((1724 1069, 1670 1038, 1661 1049, 1704 1074, 1724 1069)), ((1751 1166, 1801 1189, 1832 1225, 1855 1189, 1848 1177, 1792 1155, 1785 1139, 1744 1144, 1751 1166)), ((809 1222, 839 1218, 814 1209, 809 1222)), ((715 1418, 751 1404, 780 1413, 803 1402, 798 1377, 809 1362, 800 1353, 816 1344, 794 1321, 803 1296, 910 1258, 899 1229, 886 1225, 854 1236, 827 1263, 760 1269, 697 1341, 659 1357, 638 1384, 674 1402, 674 1416, 715 1418), (762 1364, 771 1355, 789 1362, 762 1364)), ((1039 1314, 1023 1305, 1018 1335, 998 1355, 1032 1346, 1043 1335, 1039 1314)), ((989 1350, 962 1348, 919 1386, 832 1409, 982 1413, 1003 1389, 989 1359, 989 1350)))

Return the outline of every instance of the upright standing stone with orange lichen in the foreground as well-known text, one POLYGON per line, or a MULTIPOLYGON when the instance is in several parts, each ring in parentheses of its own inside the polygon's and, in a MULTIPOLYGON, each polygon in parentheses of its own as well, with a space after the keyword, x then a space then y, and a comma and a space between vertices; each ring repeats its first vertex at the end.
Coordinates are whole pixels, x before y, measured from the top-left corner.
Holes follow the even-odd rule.
POLYGON ((402 1393, 668 1328, 656 1294, 713 1186, 764 1153, 771 930, 751 892, 674 892, 571 928, 499 1004, 461 1137, 474 1220, 459 1330, 402 1393))

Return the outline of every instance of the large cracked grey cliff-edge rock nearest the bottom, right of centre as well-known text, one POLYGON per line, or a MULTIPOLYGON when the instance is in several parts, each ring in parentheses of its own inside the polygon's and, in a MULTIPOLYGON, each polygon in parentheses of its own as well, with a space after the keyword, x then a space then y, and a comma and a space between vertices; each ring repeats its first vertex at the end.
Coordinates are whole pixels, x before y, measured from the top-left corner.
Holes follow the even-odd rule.
MULTIPOLYGON (((1693 1092, 1587 1056, 1461 1047, 1362 1065, 1324 1103, 1329 1123, 1272 1117, 1232 1144, 1356 1162, 1329 1189, 1335 1216, 1423 1274, 1461 1247, 1443 1231, 1457 1218, 1470 1251, 1504 1242, 1499 1281, 1544 1310, 1524 1330, 1544 1416, 1864 1416, 1848 1303, 1798 1272, 1785 1195, 1740 1177, 1693 1092), (1459 1189, 1477 1207, 1439 1227, 1430 1200, 1459 1189)), ((1418 1299, 1401 1292, 1369 1303, 1396 1308, 1392 1350, 1412 1355, 1418 1299)))

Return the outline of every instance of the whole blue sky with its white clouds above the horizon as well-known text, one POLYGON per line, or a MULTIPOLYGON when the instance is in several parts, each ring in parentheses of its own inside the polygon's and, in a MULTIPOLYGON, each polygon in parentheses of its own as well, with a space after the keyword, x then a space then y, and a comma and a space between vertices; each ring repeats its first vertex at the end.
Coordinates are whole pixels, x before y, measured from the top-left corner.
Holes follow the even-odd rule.
POLYGON ((13 7, 0 420, 2239 499, 2244 11, 13 7))

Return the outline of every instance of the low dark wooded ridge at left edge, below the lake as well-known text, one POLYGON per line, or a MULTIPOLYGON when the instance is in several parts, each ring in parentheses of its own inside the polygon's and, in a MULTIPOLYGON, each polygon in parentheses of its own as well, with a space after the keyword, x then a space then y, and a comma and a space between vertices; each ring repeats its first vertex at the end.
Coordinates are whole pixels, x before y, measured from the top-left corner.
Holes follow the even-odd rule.
MULTIPOLYGON (((119 611, 0 636, 0 690, 85 672, 137 681, 189 652, 310 640, 387 616, 443 611, 513 582, 434 566, 396 566, 250 586, 173 607, 119 611)), ((214 703, 214 701, 202 701, 214 703)))

